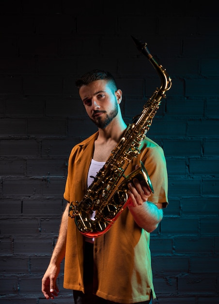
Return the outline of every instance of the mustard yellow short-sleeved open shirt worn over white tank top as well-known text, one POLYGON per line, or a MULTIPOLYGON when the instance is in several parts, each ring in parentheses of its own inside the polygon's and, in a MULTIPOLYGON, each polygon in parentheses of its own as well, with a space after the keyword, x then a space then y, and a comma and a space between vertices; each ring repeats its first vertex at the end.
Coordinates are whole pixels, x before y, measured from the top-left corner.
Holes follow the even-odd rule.
MULTIPOLYGON (((68 202, 80 202, 86 193, 97 136, 98 132, 71 151, 64 191, 64 199, 68 202)), ((140 160, 154 187, 150 202, 163 203, 166 207, 168 179, 162 148, 146 137, 141 153, 128 165, 125 175, 132 172, 140 160)), ((84 292, 83 242, 84 237, 75 220, 69 217, 63 287, 84 292)), ((94 293, 106 300, 125 304, 149 300, 151 290, 155 298, 149 243, 150 233, 140 228, 125 208, 109 231, 94 240, 94 293)))

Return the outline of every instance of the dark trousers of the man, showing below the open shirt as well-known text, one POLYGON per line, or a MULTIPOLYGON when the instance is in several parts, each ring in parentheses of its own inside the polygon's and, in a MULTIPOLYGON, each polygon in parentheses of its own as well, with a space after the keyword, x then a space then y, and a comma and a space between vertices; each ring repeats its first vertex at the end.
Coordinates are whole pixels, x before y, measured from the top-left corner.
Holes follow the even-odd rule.
MULTIPOLYGON (((73 290, 75 304, 116 304, 117 302, 102 299, 93 294, 93 265, 94 265, 94 245, 85 242, 84 250, 84 288, 85 293, 73 290)), ((136 304, 152 304, 151 300, 138 302, 136 304)))

